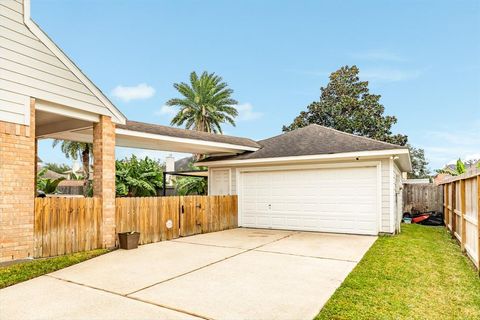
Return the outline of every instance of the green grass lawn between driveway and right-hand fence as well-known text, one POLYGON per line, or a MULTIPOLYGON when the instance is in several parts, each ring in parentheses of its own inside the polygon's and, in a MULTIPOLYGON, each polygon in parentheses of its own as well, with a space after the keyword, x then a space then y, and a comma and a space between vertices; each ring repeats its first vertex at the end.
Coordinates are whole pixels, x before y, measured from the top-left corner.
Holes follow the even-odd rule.
POLYGON ((380 237, 316 319, 480 319, 480 279, 443 227, 380 237))

